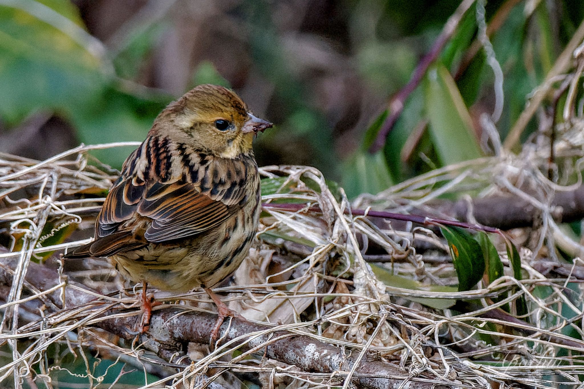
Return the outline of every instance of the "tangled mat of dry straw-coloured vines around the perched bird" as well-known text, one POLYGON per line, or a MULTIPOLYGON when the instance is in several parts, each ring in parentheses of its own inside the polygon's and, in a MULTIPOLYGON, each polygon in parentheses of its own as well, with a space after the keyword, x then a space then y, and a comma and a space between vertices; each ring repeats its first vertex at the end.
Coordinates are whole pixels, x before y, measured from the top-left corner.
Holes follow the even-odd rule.
MULTIPOLYGON (((572 170, 562 171, 572 174, 584 144, 581 122, 561 134, 557 158, 564 167, 572 161, 572 170)), ((0 252, 2 382, 50 385, 62 360, 76 355, 93 387, 106 376, 96 373, 95 356, 157 377, 145 388, 230 387, 233 380, 266 387, 580 384, 581 261, 562 265, 551 246, 581 248, 558 227, 552 206, 552 193, 579 190, 580 180, 547 180, 546 156, 536 149, 449 166, 353 203, 314 168, 262 168, 264 203, 304 206, 264 208, 248 258, 233 282, 217 289, 246 320, 225 322, 219 341, 208 345, 215 316, 204 294, 157 293, 164 304, 151 331, 137 335, 135 291, 123 289, 108 263, 60 259, 63 249, 88 241, 116 178, 88 151, 120 145, 128 144, 81 146, 42 162, 0 156, 0 221, 10 238, 0 252), (447 258, 435 231, 346 213, 373 207, 435 214, 437 197, 470 192, 478 199, 519 195, 536 210, 539 224, 515 234, 523 280, 506 272, 479 289, 456 291, 451 261, 433 259, 447 258), (367 263, 376 256, 392 263, 367 263), (520 296, 527 315, 499 309, 520 296)))

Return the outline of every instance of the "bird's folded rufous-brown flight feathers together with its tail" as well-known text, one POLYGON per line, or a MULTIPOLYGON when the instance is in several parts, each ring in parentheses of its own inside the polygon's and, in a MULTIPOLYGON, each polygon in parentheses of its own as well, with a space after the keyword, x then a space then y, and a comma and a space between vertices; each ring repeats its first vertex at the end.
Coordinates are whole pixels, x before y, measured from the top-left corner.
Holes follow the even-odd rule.
POLYGON ((112 256, 148 242, 188 237, 217 226, 239 209, 238 204, 213 200, 198 189, 193 183, 135 186, 131 179, 120 181, 110 190, 99 213, 95 241, 69 251, 65 258, 112 256), (133 231, 141 223, 137 216, 150 218, 143 236, 133 231))

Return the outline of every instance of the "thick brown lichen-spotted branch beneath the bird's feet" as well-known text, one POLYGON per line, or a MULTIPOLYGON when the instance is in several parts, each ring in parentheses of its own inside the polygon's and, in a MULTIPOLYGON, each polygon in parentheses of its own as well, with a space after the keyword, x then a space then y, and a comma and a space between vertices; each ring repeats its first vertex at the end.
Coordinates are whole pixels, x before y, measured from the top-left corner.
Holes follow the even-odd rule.
MULTIPOLYGON (((1 262, 0 262, 1 263, 1 262)), ((16 261, 5 262, 0 266, 0 283, 11 282, 11 275, 8 270, 16 265, 16 261)), ((30 270, 27 272, 27 282, 33 284, 40 291, 53 286, 58 282, 58 274, 53 269, 37 263, 30 263, 30 270)), ((71 283, 74 284, 74 283, 71 283)), ((87 307, 88 303, 99 304, 95 300, 93 293, 82 293, 86 288, 80 284, 77 287, 65 290, 65 300, 68 310, 75 310, 75 307, 87 307)), ((50 297, 55 305, 62 305, 60 294, 53 293, 50 297)), ((115 315, 120 310, 110 310, 102 317, 93 319, 91 322, 96 327, 105 329, 114 335, 124 339, 134 339, 135 334, 130 331, 135 324, 135 317, 115 315)), ((58 314, 58 312, 55 312, 58 314)), ((86 316, 86 312, 79 314, 86 316)), ((56 316, 55 316, 56 318, 56 316)), ((71 319, 71 318, 68 318, 71 319)), ((150 331, 141 335, 139 343, 144 348, 156 352, 161 357, 171 356, 179 351, 182 344, 189 342, 207 344, 210 341, 211 330, 217 315, 206 312, 185 311, 181 308, 166 308, 152 312, 150 331)), ((242 351, 255 350, 260 355, 279 360, 280 362, 296 365, 307 372, 332 373, 336 376, 346 376, 346 371, 357 362, 359 357, 347 355, 345 350, 336 346, 328 345, 308 336, 294 334, 287 331, 273 331, 269 325, 255 324, 245 319, 234 318, 225 321, 221 326, 220 339, 224 345, 215 352, 226 352, 230 354, 232 350, 242 351)), ((365 354, 367 363, 360 364, 353 374, 353 384, 360 388, 397 388, 407 376, 399 367, 382 362, 375 354, 367 352, 365 354)), ((416 383, 418 388, 436 387, 433 384, 425 383, 419 377, 416 383)), ((430 380, 432 381, 432 380, 430 380)), ((435 383, 435 381, 433 381, 435 383)), ((440 385, 439 385, 440 387, 440 385)))

